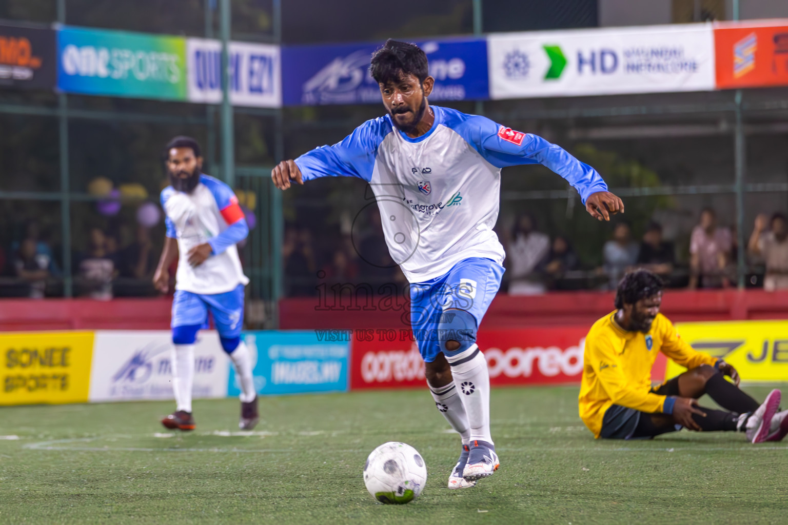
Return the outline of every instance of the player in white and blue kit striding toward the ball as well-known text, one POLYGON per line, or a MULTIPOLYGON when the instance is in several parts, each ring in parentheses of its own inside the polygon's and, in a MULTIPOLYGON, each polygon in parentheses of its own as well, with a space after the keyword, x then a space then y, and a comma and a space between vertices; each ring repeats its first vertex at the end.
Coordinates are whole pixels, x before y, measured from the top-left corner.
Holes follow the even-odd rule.
POLYGON ((429 105, 434 79, 426 54, 388 40, 370 72, 388 114, 333 146, 283 161, 271 174, 291 181, 355 176, 370 183, 388 251, 411 283, 411 327, 437 409, 462 439, 448 487, 474 486, 499 466, 489 427, 489 374, 476 332, 504 274, 492 228, 500 170, 541 164, 567 179, 598 220, 623 212, 593 168, 541 137, 484 116, 429 105))

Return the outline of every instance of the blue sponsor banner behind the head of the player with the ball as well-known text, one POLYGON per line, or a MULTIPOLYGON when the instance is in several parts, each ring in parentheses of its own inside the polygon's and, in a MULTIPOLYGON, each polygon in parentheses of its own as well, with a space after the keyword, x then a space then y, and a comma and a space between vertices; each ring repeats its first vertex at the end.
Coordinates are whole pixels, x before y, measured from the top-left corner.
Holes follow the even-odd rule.
MULTIPOLYGON (((439 100, 489 98, 487 41, 440 39, 416 42, 427 54, 439 100)), ((284 105, 380 103, 370 76, 370 57, 382 43, 282 48, 284 105)))

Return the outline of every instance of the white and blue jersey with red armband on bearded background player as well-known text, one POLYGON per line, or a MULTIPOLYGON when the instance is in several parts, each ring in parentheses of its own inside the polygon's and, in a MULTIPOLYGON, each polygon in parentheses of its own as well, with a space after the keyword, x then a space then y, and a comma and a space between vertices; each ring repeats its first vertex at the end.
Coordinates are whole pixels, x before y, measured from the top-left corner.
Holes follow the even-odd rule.
POLYGON ((175 289, 192 294, 223 294, 239 284, 249 283, 243 275, 236 242, 249 233, 238 198, 230 187, 207 175, 190 193, 172 186, 162 190, 167 237, 178 241, 178 271, 175 289), (194 246, 210 244, 211 255, 192 267, 188 252, 194 246))

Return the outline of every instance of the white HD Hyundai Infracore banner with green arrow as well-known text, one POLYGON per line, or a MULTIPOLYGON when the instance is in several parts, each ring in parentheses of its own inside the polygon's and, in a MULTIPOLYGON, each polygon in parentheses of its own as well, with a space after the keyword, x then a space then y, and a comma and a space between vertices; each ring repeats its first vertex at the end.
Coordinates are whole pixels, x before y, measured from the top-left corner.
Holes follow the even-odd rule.
POLYGON ((708 24, 503 33, 487 45, 493 99, 715 87, 708 24))

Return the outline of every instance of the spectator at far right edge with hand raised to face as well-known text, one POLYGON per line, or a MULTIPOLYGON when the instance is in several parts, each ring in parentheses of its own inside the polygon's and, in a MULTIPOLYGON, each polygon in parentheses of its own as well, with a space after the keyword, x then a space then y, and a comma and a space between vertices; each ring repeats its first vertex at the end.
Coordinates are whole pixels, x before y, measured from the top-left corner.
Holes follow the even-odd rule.
POLYGON ((766 263, 764 290, 774 291, 788 288, 788 218, 775 213, 768 221, 771 231, 766 231, 767 216, 755 219, 753 235, 749 237, 748 250, 751 255, 763 257, 766 263))

